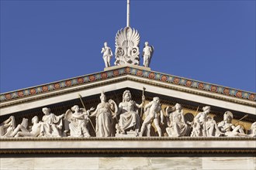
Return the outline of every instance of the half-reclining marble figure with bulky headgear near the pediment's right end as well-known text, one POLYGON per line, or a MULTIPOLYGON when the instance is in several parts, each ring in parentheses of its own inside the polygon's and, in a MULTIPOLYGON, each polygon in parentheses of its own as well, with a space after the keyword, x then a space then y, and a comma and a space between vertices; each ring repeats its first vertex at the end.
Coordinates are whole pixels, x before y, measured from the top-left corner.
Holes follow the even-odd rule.
POLYGON ((244 130, 240 125, 234 126, 234 124, 231 123, 232 119, 232 112, 226 111, 223 115, 223 121, 220 121, 218 124, 220 131, 228 137, 247 136, 247 134, 244 134, 244 130))

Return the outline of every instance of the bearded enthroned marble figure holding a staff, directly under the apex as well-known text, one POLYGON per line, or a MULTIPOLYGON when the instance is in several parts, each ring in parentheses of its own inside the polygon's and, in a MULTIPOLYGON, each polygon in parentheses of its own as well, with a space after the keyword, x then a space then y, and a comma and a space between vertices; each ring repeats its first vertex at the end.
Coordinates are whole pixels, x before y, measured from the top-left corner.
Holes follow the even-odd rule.
POLYGON ((142 98, 142 104, 136 104, 131 98, 130 90, 123 92, 123 102, 119 104, 116 115, 120 114, 119 122, 116 124, 116 134, 126 134, 129 128, 135 130, 138 134, 140 128, 140 116, 137 112, 138 108, 141 108, 144 104, 144 97, 142 98))

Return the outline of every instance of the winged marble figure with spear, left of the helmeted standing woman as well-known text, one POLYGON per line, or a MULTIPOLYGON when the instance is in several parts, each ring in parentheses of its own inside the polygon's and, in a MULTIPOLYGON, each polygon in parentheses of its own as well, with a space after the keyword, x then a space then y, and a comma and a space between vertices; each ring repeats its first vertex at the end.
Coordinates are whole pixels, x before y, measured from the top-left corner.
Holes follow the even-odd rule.
POLYGON ((91 137, 88 131, 89 113, 94 110, 92 107, 90 110, 74 105, 71 110, 66 111, 64 119, 69 121, 70 136, 71 137, 91 137), (72 112, 73 111, 73 112, 72 112))

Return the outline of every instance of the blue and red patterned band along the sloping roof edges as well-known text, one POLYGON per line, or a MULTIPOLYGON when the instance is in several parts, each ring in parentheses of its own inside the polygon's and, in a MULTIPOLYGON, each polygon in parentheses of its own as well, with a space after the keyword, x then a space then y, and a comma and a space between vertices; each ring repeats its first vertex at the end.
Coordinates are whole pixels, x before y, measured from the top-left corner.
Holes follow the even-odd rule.
POLYGON ((60 90, 68 87, 74 87, 81 84, 91 83, 99 80, 107 80, 116 76, 133 75, 144 77, 149 80, 156 80, 164 83, 171 83, 182 87, 190 87, 193 89, 209 91, 212 93, 220 93, 230 97, 242 98, 245 100, 256 100, 256 93, 251 93, 243 90, 237 90, 230 87, 222 87, 215 84, 204 83, 197 80, 189 80, 179 76, 168 75, 164 73, 157 73, 149 70, 141 70, 126 66, 115 70, 103 71, 101 73, 92 73, 85 76, 78 76, 69 80, 61 80, 59 82, 48 83, 38 87, 26 88, 10 93, 2 93, 0 95, 1 101, 13 100, 22 97, 33 96, 38 93, 47 93, 54 90, 60 90))

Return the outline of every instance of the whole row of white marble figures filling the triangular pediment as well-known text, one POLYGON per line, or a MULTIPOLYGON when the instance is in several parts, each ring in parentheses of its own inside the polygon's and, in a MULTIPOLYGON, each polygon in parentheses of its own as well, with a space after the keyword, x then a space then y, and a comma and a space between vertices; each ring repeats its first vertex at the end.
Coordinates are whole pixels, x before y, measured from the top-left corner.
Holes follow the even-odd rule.
POLYGON ((189 128, 192 128, 191 137, 256 137, 256 122, 251 124, 251 134, 245 134, 240 125, 232 124, 233 114, 226 111, 223 114, 223 121, 216 122, 209 116, 210 107, 202 107, 202 112, 196 114, 192 122, 185 122, 181 104, 174 107, 161 107, 159 97, 154 97, 150 103, 145 104, 145 97, 142 103, 137 104, 132 100, 130 90, 123 92, 123 100, 117 106, 114 100, 106 100, 106 95, 101 93, 101 102, 96 108, 89 110, 74 105, 65 114, 59 116, 50 112, 50 108, 43 107, 43 117, 40 121, 37 116, 32 118, 32 126, 28 127, 29 121, 22 119, 22 123, 16 126, 15 117, 11 116, 0 124, 0 137, 73 137, 88 138, 91 134, 88 131, 91 119, 95 118, 96 137, 150 137, 150 129, 154 123, 159 137, 164 132, 169 137, 188 136, 189 128), (144 108, 144 115, 139 115, 139 110, 144 108), (118 118, 119 117, 119 118, 118 118), (142 124, 140 118, 144 117, 142 124), (164 124, 164 118, 167 124, 164 124), (116 121, 114 121, 116 119, 116 121), (68 128, 64 128, 64 121, 68 128), (117 122, 117 124, 114 124, 117 122), (152 124, 151 124, 152 123, 152 124), (160 126, 165 127, 165 131, 160 126), (116 130, 116 131, 115 131, 116 130))

